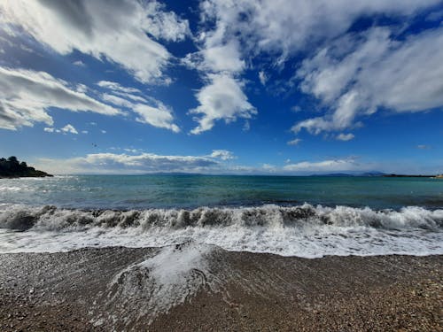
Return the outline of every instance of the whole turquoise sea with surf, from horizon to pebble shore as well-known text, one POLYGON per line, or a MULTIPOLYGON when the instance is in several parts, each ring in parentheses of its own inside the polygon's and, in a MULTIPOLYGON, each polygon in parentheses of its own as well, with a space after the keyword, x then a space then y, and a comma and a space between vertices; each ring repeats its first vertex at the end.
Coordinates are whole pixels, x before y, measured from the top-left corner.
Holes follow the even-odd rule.
POLYGON ((198 243, 228 251, 443 254, 443 180, 72 175, 0 179, 0 253, 198 243))

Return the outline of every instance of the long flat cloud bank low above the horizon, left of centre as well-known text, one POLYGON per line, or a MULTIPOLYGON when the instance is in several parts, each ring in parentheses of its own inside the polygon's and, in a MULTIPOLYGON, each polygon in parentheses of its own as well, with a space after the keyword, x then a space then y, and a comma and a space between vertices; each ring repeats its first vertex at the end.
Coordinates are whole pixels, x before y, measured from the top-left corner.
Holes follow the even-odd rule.
POLYGON ((218 169, 214 158, 196 156, 162 156, 154 153, 138 155, 94 153, 67 159, 41 158, 36 166, 54 174, 143 174, 155 172, 208 172, 218 169))

